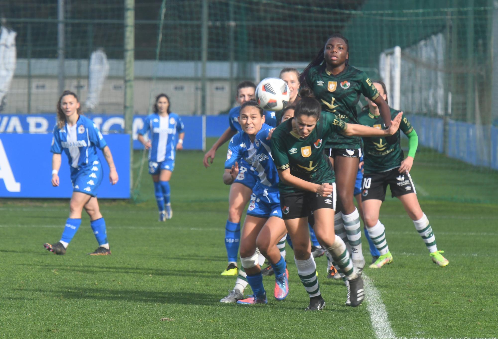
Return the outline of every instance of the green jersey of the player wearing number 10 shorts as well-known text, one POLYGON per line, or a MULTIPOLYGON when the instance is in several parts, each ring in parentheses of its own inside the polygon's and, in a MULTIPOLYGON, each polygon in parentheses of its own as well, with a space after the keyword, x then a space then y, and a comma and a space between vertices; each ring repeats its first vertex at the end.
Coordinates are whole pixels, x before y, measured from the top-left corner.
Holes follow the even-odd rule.
MULTIPOLYGON (((391 117, 399 113, 391 108, 391 117)), ((358 117, 360 124, 370 126, 378 129, 384 127, 384 121, 380 115, 373 115, 369 110, 360 113, 358 117)), ((404 159, 403 150, 401 149, 400 132, 408 134, 413 131, 413 126, 410 124, 406 116, 403 114, 399 130, 396 132, 398 142, 394 145, 389 145, 385 138, 382 137, 364 137, 363 138, 363 151, 365 160, 365 173, 379 173, 385 172, 390 169, 395 169, 401 165, 404 159)))

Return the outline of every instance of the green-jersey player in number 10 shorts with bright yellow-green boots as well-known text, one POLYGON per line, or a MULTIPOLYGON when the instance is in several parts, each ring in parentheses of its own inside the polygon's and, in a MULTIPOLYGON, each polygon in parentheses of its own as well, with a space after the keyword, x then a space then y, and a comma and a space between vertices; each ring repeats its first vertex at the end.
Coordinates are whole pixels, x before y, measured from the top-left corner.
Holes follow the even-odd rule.
MULTIPOLYGON (((374 82, 373 85, 375 85, 380 95, 387 100, 385 85, 380 81, 374 82)), ((378 106, 371 100, 368 102, 368 109, 360 114, 359 121, 362 125, 381 129, 382 119, 379 116, 378 106)), ((400 114, 399 111, 391 109, 392 116, 397 114, 400 114)), ((370 267, 380 268, 392 262, 392 254, 389 252, 387 240, 385 239, 385 228, 378 220, 387 184, 389 184, 391 189, 392 197, 397 197, 401 201, 408 216, 413 220, 415 229, 429 250, 432 261, 444 267, 449 262, 441 255, 444 251, 438 251, 437 249, 436 238, 427 216, 420 208, 415 186, 410 176, 410 169, 413 166, 413 158, 415 157, 418 146, 417 133, 404 115, 399 129, 409 139, 408 156, 406 159, 403 159, 404 155, 399 142, 399 131, 395 134, 398 142, 393 145, 389 145, 382 137, 363 138, 365 150, 365 169, 362 187, 363 213, 370 238, 380 252, 380 256, 370 267)))

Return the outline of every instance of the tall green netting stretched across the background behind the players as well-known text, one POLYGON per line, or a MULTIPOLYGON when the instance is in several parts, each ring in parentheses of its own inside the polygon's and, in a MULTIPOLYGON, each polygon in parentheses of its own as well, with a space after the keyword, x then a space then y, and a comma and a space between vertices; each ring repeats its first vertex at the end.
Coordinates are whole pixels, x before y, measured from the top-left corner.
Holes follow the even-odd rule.
MULTIPOLYGON (((160 1, 136 1, 135 111, 145 113, 162 88, 176 98, 181 114, 199 114, 203 106, 208 114, 225 112, 238 82, 278 76, 283 65, 302 69, 331 33, 340 32, 349 39, 353 66, 373 79, 388 78, 390 99, 396 86, 400 90, 396 108, 408 114, 420 137, 414 171, 421 172, 414 178, 427 192, 421 196, 498 201, 494 1, 206 1, 205 103, 204 1, 165 0, 164 11, 160 1), (397 66, 385 59, 396 46, 397 66)), ((53 112, 59 94, 56 1, 8 1, 0 12, 3 25, 17 32, 18 60, 3 112, 53 112), (37 90, 41 83, 45 89, 37 90)), ((90 54, 102 48, 110 61, 98 112, 122 112, 123 18, 123 0, 65 1, 66 82, 85 100, 90 54)))

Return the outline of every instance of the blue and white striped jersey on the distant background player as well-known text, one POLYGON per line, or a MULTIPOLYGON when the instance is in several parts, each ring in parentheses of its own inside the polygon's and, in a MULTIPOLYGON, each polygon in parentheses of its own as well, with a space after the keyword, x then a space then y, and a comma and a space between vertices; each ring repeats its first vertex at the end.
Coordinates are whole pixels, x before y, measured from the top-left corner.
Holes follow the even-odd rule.
POLYGON ((178 134, 183 132, 183 128, 183 122, 176 113, 169 113, 165 117, 156 113, 148 115, 138 134, 145 135, 150 131, 152 147, 149 150, 149 161, 160 163, 175 160, 178 134))

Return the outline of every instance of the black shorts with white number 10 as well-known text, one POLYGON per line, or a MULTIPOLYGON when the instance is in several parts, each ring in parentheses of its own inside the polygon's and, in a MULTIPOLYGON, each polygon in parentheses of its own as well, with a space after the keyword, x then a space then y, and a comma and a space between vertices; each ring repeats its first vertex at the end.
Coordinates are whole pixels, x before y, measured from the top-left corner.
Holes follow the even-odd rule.
POLYGON ((392 197, 408 193, 417 193, 410 174, 401 174, 398 168, 380 173, 363 174, 362 200, 377 199, 384 201, 387 185, 392 197))

